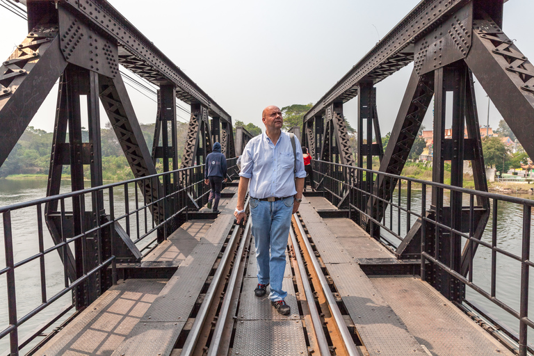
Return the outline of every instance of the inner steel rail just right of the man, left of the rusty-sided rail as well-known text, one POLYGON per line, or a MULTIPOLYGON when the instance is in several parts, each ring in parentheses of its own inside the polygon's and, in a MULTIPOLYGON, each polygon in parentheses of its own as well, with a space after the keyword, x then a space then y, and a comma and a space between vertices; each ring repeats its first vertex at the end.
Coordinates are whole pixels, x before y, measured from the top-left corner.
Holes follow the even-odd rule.
MULTIPOLYGON (((295 220, 298 220, 296 214, 295 220)), ((315 305, 314 293, 312 293, 312 286, 309 285, 304 261, 302 261, 302 255, 298 253, 298 242, 295 233, 293 232, 293 229, 289 229, 289 236, 291 236, 291 243, 293 244, 293 251, 295 252, 295 258, 297 259, 298 264, 298 272, 300 273, 300 279, 302 280, 302 284, 304 286, 304 291, 306 294, 306 300, 308 301, 309 315, 312 317, 314 333, 317 340, 317 345, 319 347, 319 353, 321 356, 330 356, 331 354, 330 349, 328 348, 328 341, 325 337, 325 333, 323 332, 323 323, 321 322, 321 317, 319 316, 317 306, 315 305)))

